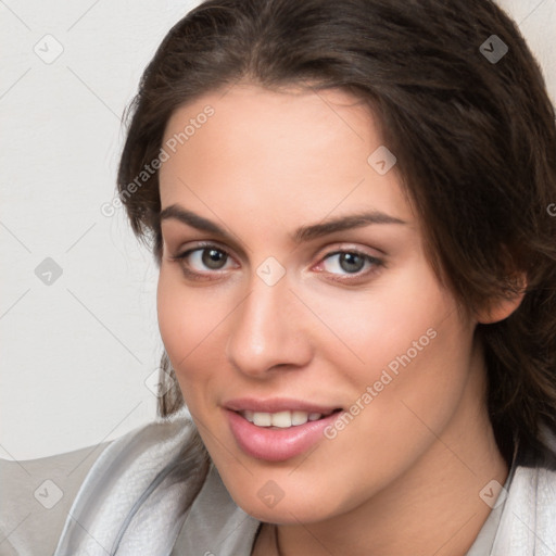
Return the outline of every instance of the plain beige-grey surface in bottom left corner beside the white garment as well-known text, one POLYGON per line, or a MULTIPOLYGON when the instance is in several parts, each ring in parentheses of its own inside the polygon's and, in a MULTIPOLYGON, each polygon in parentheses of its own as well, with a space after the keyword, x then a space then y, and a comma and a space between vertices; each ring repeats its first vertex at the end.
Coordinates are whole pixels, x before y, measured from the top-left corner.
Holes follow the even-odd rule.
POLYGON ((80 484, 110 443, 37 459, 0 459, 0 554, 54 552, 80 484))

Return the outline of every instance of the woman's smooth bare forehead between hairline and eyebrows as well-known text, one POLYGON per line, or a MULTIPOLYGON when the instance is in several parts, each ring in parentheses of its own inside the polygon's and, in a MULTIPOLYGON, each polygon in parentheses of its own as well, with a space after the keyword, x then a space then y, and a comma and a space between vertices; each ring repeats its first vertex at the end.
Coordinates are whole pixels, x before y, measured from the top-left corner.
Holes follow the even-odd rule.
POLYGON ((368 208, 410 220, 395 165, 377 172, 372 154, 388 153, 378 124, 342 90, 207 93, 168 121, 163 146, 175 152, 166 148, 160 173, 162 207, 217 206, 281 223, 368 208))

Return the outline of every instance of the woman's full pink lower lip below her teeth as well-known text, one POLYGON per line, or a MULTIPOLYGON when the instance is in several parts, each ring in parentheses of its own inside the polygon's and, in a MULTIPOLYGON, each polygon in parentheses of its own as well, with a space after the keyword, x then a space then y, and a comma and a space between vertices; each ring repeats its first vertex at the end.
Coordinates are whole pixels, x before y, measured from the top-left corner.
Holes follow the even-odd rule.
POLYGON ((287 429, 257 427, 236 412, 226 409, 231 433, 245 454, 267 462, 285 462, 306 452, 324 438, 324 430, 340 415, 287 429))

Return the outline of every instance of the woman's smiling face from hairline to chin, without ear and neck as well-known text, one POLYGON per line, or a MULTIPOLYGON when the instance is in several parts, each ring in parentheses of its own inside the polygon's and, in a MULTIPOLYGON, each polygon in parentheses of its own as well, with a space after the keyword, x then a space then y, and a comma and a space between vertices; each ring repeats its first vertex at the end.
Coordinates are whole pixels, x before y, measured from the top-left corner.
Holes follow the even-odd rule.
POLYGON ((163 146, 160 329, 239 506, 324 520, 408 481, 439 437, 465 442, 475 323, 368 109, 235 86, 177 110, 163 146))

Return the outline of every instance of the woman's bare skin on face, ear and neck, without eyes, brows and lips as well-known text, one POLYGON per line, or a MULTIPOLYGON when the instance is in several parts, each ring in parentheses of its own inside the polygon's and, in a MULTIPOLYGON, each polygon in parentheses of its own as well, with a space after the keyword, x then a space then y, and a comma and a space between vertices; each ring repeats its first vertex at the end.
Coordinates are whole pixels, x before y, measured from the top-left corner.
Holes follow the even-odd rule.
POLYGON ((266 523, 253 554, 276 554, 277 532, 288 556, 464 555, 490 511, 479 492, 508 473, 473 330, 520 299, 473 317, 457 311, 425 256, 395 166, 381 176, 367 163, 383 144, 379 126, 348 92, 238 84, 178 109, 164 141, 206 104, 215 114, 161 168, 162 208, 178 204, 230 236, 163 219, 159 321, 224 484, 266 523), (302 225, 364 210, 405 224, 291 240, 302 225), (222 269, 203 265, 200 251, 175 258, 200 241, 228 253, 222 269), (338 250, 382 263, 350 274, 329 256, 338 250), (269 256, 286 269, 271 287, 256 274, 269 256), (226 401, 286 396, 349 408, 431 328, 435 338, 333 440, 279 463, 236 443, 226 401), (257 495, 268 480, 283 491, 273 508, 257 495))

